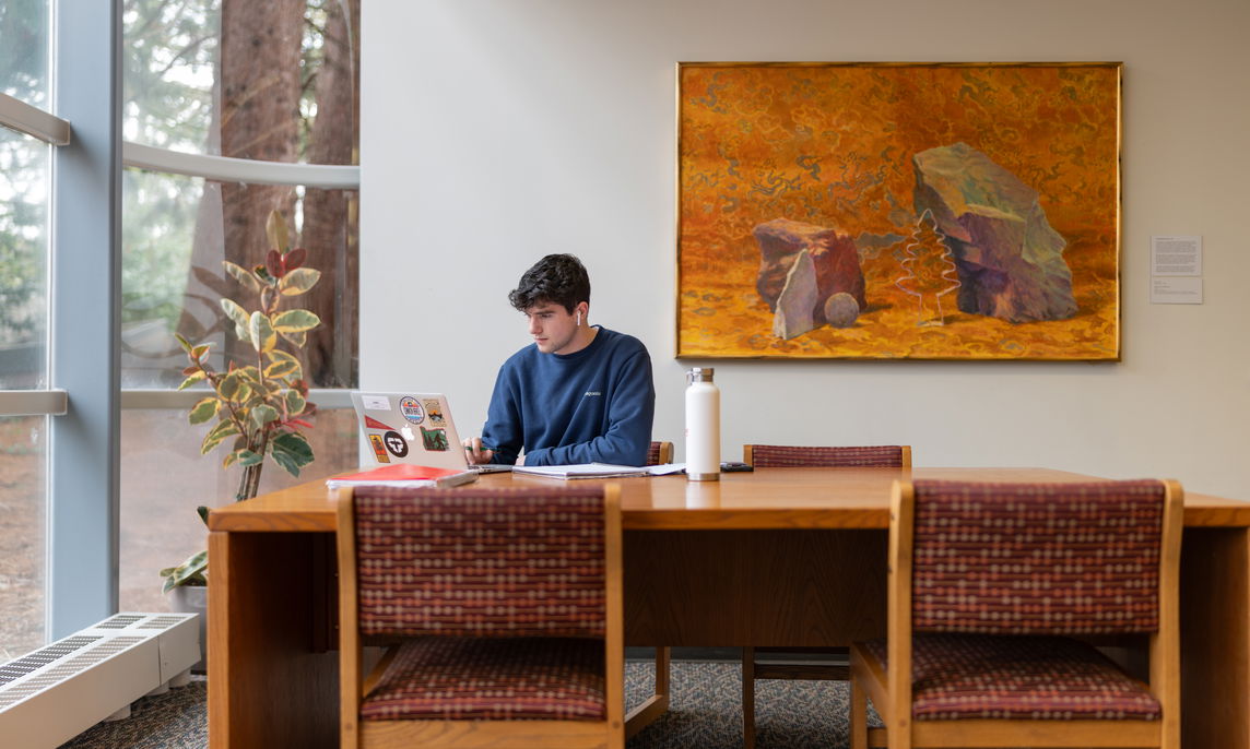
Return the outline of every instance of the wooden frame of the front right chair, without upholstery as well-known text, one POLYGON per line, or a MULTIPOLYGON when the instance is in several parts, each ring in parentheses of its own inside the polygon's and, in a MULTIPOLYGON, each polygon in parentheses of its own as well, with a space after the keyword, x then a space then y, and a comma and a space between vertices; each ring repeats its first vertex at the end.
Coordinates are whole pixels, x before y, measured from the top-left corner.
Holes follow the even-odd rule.
POLYGON ((1159 554, 1159 629, 1150 634, 1150 693, 1159 720, 911 719, 911 561, 915 491, 894 483, 890 504, 888 667, 851 645, 851 749, 889 747, 1119 747, 1180 749, 1180 539, 1184 491, 1164 482, 1159 554), (868 728, 868 698, 885 723, 868 728))

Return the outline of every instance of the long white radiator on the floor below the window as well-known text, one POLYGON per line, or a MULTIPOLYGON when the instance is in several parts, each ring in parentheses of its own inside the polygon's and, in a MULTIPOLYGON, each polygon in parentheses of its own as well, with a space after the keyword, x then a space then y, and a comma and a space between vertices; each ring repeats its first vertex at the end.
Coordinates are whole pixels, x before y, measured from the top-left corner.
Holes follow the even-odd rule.
POLYGON ((140 697, 189 680, 198 614, 120 613, 0 664, 0 743, 55 749, 140 697))

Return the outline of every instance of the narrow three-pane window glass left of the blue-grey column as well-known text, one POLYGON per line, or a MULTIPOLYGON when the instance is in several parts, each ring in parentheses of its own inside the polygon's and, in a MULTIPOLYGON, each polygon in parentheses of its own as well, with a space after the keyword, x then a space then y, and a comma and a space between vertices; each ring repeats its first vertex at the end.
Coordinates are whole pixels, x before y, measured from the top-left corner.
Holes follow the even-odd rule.
MULTIPOLYGON (((6 111, 49 107, 50 35, 45 2, 0 4, 6 111)), ((51 147, 0 126, 0 391, 48 387, 51 147)), ((20 394, 0 411, 0 662, 40 645, 46 624, 48 416, 21 414, 39 408, 20 394)))

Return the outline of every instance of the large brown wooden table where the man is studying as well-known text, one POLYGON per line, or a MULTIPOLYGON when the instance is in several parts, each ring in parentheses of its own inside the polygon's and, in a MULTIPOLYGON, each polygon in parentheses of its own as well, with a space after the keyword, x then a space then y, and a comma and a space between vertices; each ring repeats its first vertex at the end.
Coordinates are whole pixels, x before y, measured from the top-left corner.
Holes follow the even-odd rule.
MULTIPOLYGON (((629 645, 841 645, 885 630, 896 478, 1082 481, 1041 468, 784 468, 620 481, 629 645)), ((511 474, 481 484, 552 486, 511 474)), ((334 499, 310 482, 209 517, 214 749, 338 745, 334 499)), ((1250 749, 1250 503, 1185 498, 1184 739, 1250 749)))

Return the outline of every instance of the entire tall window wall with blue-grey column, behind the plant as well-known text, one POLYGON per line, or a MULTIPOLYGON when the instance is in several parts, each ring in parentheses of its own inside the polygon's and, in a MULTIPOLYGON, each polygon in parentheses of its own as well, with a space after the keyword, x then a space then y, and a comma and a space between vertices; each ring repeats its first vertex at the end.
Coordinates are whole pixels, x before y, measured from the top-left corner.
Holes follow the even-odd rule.
POLYGON ((322 320, 304 352, 321 409, 316 462, 270 464, 262 491, 355 464, 338 388, 356 381, 359 12, 0 2, 0 659, 119 599, 162 609, 156 569, 202 548, 194 508, 238 477, 199 454, 174 333, 238 360, 222 260, 264 262, 270 211, 322 272, 301 300, 322 320))

